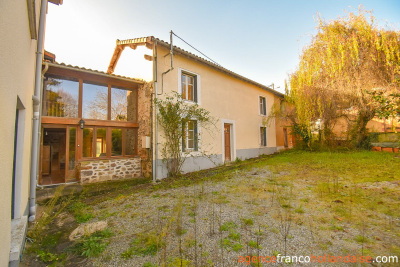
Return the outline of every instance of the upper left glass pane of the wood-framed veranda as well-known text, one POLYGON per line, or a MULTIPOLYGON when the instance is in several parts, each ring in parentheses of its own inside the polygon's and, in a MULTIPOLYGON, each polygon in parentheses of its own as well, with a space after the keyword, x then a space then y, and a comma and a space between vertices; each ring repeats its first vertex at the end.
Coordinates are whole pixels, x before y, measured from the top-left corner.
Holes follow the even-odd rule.
POLYGON ((48 77, 44 88, 43 116, 78 117, 78 81, 48 77))

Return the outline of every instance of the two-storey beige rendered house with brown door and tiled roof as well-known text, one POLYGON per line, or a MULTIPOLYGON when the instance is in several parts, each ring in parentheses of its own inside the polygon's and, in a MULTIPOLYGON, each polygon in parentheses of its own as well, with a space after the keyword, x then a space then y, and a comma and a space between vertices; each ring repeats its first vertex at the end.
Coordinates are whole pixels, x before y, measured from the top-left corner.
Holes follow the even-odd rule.
MULTIPOLYGON (((280 122, 265 124, 272 105, 279 104, 283 94, 181 48, 171 48, 167 42, 154 37, 117 40, 108 73, 114 72, 124 48, 143 45, 152 50, 145 58, 153 61, 154 97, 165 99, 178 92, 187 103, 199 104, 217 119, 212 133, 202 131, 195 120, 185 126, 187 135, 182 142, 190 157, 184 172, 271 154, 291 145, 288 130, 280 122)), ((156 128, 156 112, 152 120, 153 177, 164 178, 167 169, 160 153, 163 136, 156 128)))

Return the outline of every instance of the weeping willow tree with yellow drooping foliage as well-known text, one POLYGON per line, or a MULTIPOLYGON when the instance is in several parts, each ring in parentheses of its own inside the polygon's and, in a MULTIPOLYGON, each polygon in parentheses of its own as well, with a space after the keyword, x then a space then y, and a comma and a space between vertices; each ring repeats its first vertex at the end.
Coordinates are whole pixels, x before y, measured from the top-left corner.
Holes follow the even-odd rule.
POLYGON ((330 22, 318 18, 317 30, 289 77, 295 126, 310 136, 320 122, 324 140, 343 118, 348 138, 361 147, 376 115, 371 92, 399 92, 400 32, 379 28, 361 8, 330 22))

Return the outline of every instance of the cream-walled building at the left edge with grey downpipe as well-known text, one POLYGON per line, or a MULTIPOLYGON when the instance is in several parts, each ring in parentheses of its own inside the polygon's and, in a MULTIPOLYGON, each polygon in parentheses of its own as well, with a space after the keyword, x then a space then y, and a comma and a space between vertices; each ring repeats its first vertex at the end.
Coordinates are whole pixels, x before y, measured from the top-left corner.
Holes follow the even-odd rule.
POLYGON ((36 184, 30 172, 37 135, 32 129, 38 119, 35 88, 41 83, 46 10, 46 0, 0 1, 0 266, 18 265, 28 216, 34 218, 29 202, 36 184))

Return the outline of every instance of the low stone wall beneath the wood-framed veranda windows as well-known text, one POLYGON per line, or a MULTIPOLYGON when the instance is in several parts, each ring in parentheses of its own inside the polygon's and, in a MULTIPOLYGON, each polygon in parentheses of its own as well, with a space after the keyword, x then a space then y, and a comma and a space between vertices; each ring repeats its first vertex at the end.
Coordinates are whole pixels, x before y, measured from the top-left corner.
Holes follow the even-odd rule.
POLYGON ((80 162, 80 181, 82 184, 130 179, 140 176, 142 176, 140 157, 80 162))

